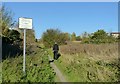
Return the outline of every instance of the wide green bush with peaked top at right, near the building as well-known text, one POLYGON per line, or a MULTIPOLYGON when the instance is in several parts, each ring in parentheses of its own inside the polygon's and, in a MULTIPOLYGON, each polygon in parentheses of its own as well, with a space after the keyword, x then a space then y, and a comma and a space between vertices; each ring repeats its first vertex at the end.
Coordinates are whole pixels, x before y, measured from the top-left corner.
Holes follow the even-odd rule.
POLYGON ((106 33, 102 29, 92 33, 91 35, 88 35, 88 37, 82 38, 82 43, 100 44, 100 43, 114 43, 117 41, 118 40, 116 38, 108 35, 108 33, 106 33))

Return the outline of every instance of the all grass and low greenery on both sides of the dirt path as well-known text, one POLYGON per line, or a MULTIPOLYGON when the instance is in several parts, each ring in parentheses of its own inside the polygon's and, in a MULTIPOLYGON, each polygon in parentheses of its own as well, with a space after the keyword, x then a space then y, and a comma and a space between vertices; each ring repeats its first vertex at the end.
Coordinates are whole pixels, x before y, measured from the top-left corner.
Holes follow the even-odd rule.
MULTIPOLYGON (((26 74, 22 72, 23 56, 3 60, 3 82, 59 82, 48 55, 52 49, 44 46, 28 46, 26 74), (12 67, 12 68, 11 68, 12 67)), ((116 82, 118 81, 117 44, 79 44, 60 46, 61 57, 54 61, 68 82, 116 82)), ((52 57, 53 58, 53 57, 52 57)))

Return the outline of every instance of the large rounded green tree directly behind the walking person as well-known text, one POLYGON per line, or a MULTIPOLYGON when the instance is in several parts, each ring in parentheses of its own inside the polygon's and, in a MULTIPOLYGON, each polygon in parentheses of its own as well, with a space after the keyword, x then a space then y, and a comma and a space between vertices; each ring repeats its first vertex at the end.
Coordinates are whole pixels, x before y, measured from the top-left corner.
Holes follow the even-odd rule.
POLYGON ((45 47, 52 47, 55 42, 59 45, 66 41, 65 34, 59 29, 47 29, 42 35, 42 41, 45 47))

